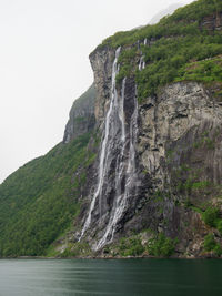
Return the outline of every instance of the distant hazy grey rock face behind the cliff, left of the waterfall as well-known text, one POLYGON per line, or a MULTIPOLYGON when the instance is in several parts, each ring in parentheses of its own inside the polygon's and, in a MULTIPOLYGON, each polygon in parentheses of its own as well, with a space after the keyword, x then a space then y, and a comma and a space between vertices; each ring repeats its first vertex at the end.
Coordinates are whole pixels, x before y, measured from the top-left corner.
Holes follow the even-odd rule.
POLYGON ((87 92, 77 99, 70 110, 69 121, 65 126, 63 143, 93 130, 95 89, 92 84, 87 92))

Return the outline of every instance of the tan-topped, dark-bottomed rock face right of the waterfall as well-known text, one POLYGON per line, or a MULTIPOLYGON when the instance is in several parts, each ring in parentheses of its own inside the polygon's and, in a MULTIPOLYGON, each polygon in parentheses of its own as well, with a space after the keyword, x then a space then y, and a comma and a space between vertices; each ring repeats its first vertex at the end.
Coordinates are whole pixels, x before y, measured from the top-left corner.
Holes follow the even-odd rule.
POLYGON ((221 194, 221 103, 195 82, 165 86, 141 105, 138 151, 151 186, 130 226, 163 231, 183 242, 180 251, 200 252, 208 229, 184 204, 204 208, 221 194))

